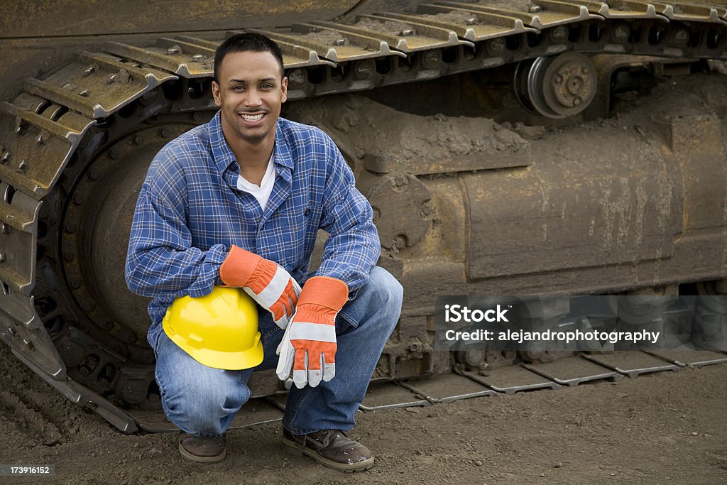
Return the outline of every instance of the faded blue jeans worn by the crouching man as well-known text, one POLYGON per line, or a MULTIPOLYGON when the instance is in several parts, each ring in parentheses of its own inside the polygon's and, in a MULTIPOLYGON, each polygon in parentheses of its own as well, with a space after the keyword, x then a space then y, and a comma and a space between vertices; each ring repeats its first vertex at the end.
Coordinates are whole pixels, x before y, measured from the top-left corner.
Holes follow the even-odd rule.
MULTIPOLYGON (((283 426, 301 435, 317 430, 353 428, 353 415, 364 400, 371 374, 401 312, 403 289, 387 270, 375 267, 369 283, 346 302, 336 317, 336 376, 315 388, 290 390, 283 426)), ((199 364, 166 333, 159 332, 156 382, 161 406, 169 420, 185 433, 220 436, 250 398, 247 387, 256 370, 278 365, 276 349, 284 331, 270 313, 260 310, 259 328, 265 358, 254 369, 229 371, 199 364)))

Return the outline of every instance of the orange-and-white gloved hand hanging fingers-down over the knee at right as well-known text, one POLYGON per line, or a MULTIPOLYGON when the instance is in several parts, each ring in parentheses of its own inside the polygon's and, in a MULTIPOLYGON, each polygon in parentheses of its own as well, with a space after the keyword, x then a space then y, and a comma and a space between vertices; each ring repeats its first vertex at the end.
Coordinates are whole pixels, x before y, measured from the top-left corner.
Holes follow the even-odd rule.
POLYGON ((336 315, 348 299, 348 286, 336 278, 313 276, 303 285, 293 320, 278 345, 278 379, 315 388, 336 374, 336 315))

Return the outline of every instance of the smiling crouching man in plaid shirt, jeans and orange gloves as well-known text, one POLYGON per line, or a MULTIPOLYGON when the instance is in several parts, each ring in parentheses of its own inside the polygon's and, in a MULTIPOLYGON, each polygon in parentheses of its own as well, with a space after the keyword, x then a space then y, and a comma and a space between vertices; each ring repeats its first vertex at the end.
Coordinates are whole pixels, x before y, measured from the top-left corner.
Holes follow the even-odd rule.
POLYGON ((277 366, 278 377, 292 371, 294 381, 284 444, 337 470, 364 470, 374 458, 348 430, 398 320, 402 289, 375 266, 371 206, 331 138, 279 118, 287 86, 270 39, 244 33, 220 45, 212 82, 220 111, 149 167, 126 282, 153 297, 156 381, 184 457, 222 460, 225 431, 251 394, 250 373, 277 366), (318 228, 330 237, 308 276, 318 228), (265 358, 255 369, 203 366, 161 328, 177 297, 201 297, 214 285, 243 288, 260 305, 265 358))

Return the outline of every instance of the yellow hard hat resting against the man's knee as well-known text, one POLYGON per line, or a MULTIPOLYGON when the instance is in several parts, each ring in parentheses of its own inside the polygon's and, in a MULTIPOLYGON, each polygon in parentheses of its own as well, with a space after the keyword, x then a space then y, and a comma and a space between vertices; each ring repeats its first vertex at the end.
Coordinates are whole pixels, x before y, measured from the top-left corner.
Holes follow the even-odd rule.
POLYGON ((161 326, 200 364, 238 370, 262 362, 257 308, 242 289, 214 286, 204 297, 177 298, 161 326))

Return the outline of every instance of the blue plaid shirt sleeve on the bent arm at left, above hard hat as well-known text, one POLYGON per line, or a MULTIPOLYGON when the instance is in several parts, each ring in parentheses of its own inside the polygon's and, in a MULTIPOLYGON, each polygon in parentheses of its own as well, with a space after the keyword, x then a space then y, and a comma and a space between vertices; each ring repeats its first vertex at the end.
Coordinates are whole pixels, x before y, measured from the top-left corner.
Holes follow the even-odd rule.
POLYGON ((186 196, 181 164, 161 151, 149 167, 132 221, 125 268, 132 292, 170 299, 212 292, 227 248, 192 246, 186 196))

